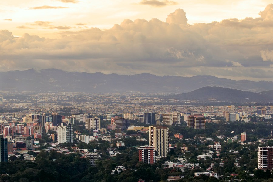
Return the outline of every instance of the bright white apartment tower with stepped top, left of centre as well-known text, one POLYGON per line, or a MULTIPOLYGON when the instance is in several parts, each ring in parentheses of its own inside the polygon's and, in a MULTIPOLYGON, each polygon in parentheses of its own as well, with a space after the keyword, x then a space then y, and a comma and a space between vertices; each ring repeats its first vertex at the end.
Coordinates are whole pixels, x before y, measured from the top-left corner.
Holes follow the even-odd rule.
POLYGON ((61 126, 58 126, 58 144, 59 143, 72 143, 73 142, 73 126, 72 124, 67 124, 64 126, 61 123, 61 126))

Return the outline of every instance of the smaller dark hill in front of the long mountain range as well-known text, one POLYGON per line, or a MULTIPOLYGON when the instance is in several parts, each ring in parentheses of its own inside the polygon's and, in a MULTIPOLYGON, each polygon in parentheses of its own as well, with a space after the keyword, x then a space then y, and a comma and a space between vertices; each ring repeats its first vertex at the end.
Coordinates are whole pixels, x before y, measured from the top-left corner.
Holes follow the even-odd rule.
POLYGON ((273 90, 254 93, 222 87, 203 87, 192 92, 165 96, 180 101, 222 101, 233 103, 273 102, 273 90))

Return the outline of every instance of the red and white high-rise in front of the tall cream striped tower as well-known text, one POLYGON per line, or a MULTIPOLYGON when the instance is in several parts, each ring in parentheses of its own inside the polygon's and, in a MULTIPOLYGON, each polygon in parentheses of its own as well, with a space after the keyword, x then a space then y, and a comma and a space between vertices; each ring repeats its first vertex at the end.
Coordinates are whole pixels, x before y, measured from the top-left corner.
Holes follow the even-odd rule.
POLYGON ((148 164, 155 163, 154 147, 150 146, 138 147, 138 160, 148 164))

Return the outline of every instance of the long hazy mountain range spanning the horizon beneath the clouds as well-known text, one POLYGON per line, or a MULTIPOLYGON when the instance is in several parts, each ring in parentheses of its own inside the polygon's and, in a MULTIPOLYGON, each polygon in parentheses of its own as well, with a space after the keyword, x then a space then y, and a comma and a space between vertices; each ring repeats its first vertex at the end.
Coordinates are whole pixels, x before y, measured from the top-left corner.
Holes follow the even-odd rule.
POLYGON ((214 76, 156 76, 103 74, 100 72, 67 72, 59 69, 0 72, 0 90, 16 91, 67 91, 67 92, 143 92, 184 93, 205 86, 218 86, 243 91, 273 90, 273 82, 231 80, 214 76))

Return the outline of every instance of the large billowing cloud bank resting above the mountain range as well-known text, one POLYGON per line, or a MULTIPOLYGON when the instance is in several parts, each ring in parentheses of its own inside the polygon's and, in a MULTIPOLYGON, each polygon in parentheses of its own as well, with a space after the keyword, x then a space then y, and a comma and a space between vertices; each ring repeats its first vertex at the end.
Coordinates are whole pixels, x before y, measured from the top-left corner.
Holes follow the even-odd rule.
POLYGON ((0 71, 35 67, 272 80, 270 7, 259 18, 194 25, 188 25, 186 13, 178 9, 166 22, 126 19, 104 31, 90 28, 75 32, 70 26, 37 21, 32 25, 63 31, 56 39, 29 34, 15 37, 12 32, 0 31, 0 71))

